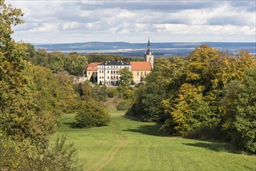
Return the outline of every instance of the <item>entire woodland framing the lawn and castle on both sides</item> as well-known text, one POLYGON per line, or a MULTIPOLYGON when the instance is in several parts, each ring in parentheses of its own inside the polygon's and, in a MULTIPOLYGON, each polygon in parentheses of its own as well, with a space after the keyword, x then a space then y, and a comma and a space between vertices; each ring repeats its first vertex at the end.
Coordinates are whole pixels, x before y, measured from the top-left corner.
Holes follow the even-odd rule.
POLYGON ((12 39, 23 13, 0 1, 0 168, 80 170, 77 150, 65 136, 52 139, 63 113, 76 113, 74 129, 101 127, 110 114, 101 105, 116 96, 117 110, 163 124, 170 136, 229 141, 256 152, 256 62, 248 51, 226 54, 202 45, 186 58, 158 58, 145 82, 134 86, 121 71, 117 88, 73 83, 94 61, 131 61, 118 55, 69 55, 35 50, 12 39))

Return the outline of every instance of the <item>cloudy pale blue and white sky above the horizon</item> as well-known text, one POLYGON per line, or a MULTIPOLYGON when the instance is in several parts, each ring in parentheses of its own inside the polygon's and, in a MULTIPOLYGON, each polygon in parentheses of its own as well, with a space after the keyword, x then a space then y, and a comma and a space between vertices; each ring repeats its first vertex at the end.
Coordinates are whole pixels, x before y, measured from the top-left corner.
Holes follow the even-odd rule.
POLYGON ((12 37, 32 44, 90 41, 256 42, 251 0, 5 0, 25 23, 12 37))

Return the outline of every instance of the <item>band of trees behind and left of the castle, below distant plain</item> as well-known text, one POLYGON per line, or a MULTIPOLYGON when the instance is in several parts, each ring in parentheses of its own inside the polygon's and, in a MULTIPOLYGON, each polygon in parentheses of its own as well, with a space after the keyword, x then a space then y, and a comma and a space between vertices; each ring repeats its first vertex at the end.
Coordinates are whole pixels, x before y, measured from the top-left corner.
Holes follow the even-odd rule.
POLYGON ((52 72, 67 72, 69 75, 83 76, 87 65, 92 62, 103 61, 142 61, 139 58, 124 58, 121 55, 108 54, 78 54, 72 52, 68 55, 61 51, 47 52, 44 49, 35 50, 32 44, 26 45, 26 55, 23 59, 34 65, 50 68, 52 72))

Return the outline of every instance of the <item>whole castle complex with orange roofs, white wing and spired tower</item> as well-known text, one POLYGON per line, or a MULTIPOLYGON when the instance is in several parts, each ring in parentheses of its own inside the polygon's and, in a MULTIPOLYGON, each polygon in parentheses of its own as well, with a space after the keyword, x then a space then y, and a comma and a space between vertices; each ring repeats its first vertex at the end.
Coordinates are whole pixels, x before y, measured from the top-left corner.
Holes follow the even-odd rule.
POLYGON ((127 67, 132 72, 133 81, 142 82, 153 70, 154 54, 150 50, 150 42, 148 41, 147 51, 144 54, 144 61, 105 61, 102 63, 91 63, 86 69, 86 76, 91 81, 100 82, 106 85, 116 86, 120 83, 119 70, 127 67))

